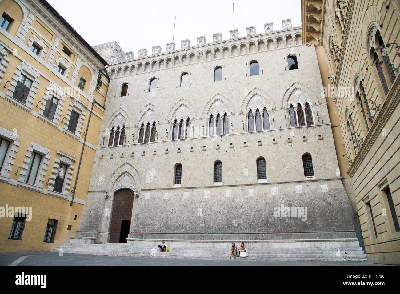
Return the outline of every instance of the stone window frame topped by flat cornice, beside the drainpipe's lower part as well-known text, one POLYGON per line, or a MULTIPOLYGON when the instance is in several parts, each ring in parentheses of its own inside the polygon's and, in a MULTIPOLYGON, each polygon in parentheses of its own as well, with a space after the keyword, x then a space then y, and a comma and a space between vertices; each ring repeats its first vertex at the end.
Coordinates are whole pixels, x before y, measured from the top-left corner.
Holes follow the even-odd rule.
POLYGON ((72 183, 72 176, 74 174, 74 162, 77 162, 78 158, 75 158, 72 155, 67 154, 66 152, 63 152, 61 150, 57 150, 57 158, 54 159, 54 164, 52 168, 52 174, 50 176, 50 180, 48 182, 48 194, 53 194, 57 193, 58 194, 63 194, 65 196, 69 195, 69 191, 71 188, 71 183, 72 183), (58 175, 58 169, 60 168, 61 164, 65 164, 67 166, 66 169, 66 174, 64 175, 64 184, 62 185, 61 192, 56 192, 54 191, 54 184, 56 183, 56 178, 58 175))

